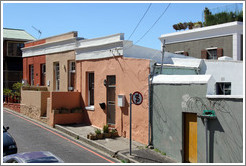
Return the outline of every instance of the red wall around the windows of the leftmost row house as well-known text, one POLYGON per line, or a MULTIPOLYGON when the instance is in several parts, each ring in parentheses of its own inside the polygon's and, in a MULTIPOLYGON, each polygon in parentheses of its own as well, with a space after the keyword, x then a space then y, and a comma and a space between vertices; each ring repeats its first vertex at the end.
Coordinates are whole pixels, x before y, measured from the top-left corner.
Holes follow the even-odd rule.
POLYGON ((23 58, 23 79, 29 80, 29 65, 33 64, 34 67, 34 85, 41 83, 41 64, 46 63, 45 55, 23 58))

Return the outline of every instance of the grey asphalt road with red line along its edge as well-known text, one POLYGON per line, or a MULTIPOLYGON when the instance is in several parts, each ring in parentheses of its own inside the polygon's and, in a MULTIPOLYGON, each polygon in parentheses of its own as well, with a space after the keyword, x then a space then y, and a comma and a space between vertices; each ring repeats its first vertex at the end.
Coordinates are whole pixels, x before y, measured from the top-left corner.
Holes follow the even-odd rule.
POLYGON ((3 125, 9 126, 8 132, 17 143, 18 153, 50 151, 65 163, 119 162, 76 141, 75 138, 8 110, 3 111, 3 125))

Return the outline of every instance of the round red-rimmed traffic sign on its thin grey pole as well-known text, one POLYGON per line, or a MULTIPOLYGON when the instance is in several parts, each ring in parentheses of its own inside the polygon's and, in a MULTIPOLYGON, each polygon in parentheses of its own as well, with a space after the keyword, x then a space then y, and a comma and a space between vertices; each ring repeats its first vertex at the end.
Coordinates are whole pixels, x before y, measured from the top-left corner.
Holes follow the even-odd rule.
POLYGON ((130 155, 132 155, 132 103, 135 105, 140 105, 143 102, 143 95, 136 91, 133 94, 130 93, 130 155))

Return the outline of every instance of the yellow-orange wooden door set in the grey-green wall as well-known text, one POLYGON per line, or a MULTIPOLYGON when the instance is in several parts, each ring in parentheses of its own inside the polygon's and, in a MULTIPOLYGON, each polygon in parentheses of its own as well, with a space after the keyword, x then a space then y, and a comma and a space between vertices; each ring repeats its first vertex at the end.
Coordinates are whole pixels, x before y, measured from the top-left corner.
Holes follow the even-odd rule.
POLYGON ((197 115, 184 113, 184 162, 197 162, 197 115))

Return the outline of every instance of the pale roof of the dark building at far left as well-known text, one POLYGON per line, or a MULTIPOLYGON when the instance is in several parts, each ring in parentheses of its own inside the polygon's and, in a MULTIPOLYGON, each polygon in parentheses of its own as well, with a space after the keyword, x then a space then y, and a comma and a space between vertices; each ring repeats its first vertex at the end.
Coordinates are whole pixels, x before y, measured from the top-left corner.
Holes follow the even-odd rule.
POLYGON ((25 30, 10 29, 10 28, 3 28, 3 39, 21 40, 21 41, 36 40, 35 37, 27 33, 25 30))

